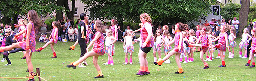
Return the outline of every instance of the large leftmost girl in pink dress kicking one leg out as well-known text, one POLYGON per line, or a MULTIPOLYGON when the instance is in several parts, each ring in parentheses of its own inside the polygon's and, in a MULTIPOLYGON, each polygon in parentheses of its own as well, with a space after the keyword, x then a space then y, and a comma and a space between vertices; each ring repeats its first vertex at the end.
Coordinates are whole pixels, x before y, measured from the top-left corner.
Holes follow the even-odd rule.
POLYGON ((22 42, 13 43, 12 45, 6 46, 6 47, 0 47, 0 52, 3 51, 9 51, 14 48, 22 48, 26 51, 26 63, 28 65, 29 70, 29 80, 34 80, 34 77, 32 77, 31 72, 33 71, 33 65, 31 62, 31 55, 32 52, 35 52, 35 28, 38 28, 41 26, 41 22, 38 19, 38 15, 35 10, 29 10, 28 12, 28 19, 29 23, 27 24, 26 29, 20 31, 18 34, 14 36, 14 39, 16 39, 19 35, 22 35, 26 32, 26 40, 22 42))

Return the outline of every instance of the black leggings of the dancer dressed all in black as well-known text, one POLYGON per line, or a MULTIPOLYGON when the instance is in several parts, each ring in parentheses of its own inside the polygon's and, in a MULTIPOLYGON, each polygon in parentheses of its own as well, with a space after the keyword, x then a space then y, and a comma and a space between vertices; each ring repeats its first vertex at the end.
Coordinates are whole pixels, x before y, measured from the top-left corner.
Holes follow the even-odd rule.
POLYGON ((81 48, 81 55, 80 55, 80 57, 82 57, 84 54, 86 54, 86 48, 87 48, 86 40, 78 38, 78 43, 79 43, 80 48, 81 48))

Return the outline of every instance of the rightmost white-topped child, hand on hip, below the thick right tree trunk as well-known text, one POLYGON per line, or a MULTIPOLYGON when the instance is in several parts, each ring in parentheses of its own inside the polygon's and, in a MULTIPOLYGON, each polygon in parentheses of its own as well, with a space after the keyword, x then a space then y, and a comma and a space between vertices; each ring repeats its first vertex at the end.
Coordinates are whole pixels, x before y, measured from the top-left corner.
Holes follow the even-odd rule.
POLYGON ((248 29, 244 28, 242 40, 239 43, 239 58, 247 58, 247 46, 249 45, 249 41, 251 40, 251 38, 252 38, 251 35, 248 34, 248 29), (250 37, 250 38, 248 39, 248 37, 250 37), (242 57, 242 48, 244 48, 244 56, 243 57, 242 57))

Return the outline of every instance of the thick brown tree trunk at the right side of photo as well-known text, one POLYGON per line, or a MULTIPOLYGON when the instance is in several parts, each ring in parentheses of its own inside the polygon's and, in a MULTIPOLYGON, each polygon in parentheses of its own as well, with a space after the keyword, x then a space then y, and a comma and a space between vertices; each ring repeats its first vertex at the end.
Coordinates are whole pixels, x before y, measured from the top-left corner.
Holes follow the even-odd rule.
POLYGON ((243 0, 241 1, 241 10, 239 13, 239 37, 242 37, 241 32, 245 26, 247 26, 248 14, 250 8, 250 0, 243 0))

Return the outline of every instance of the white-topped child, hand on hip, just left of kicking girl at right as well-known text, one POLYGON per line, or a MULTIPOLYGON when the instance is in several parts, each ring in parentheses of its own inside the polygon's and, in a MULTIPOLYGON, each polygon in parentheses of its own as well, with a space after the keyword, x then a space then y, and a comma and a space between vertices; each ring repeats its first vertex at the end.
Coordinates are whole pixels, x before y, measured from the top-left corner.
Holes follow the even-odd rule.
MULTIPOLYGON (((196 33, 193 29, 189 30, 189 39, 188 42, 191 44, 195 44, 197 42, 196 33)), ((194 62, 194 47, 189 47, 190 53, 188 54, 188 61, 187 62, 194 62)))

